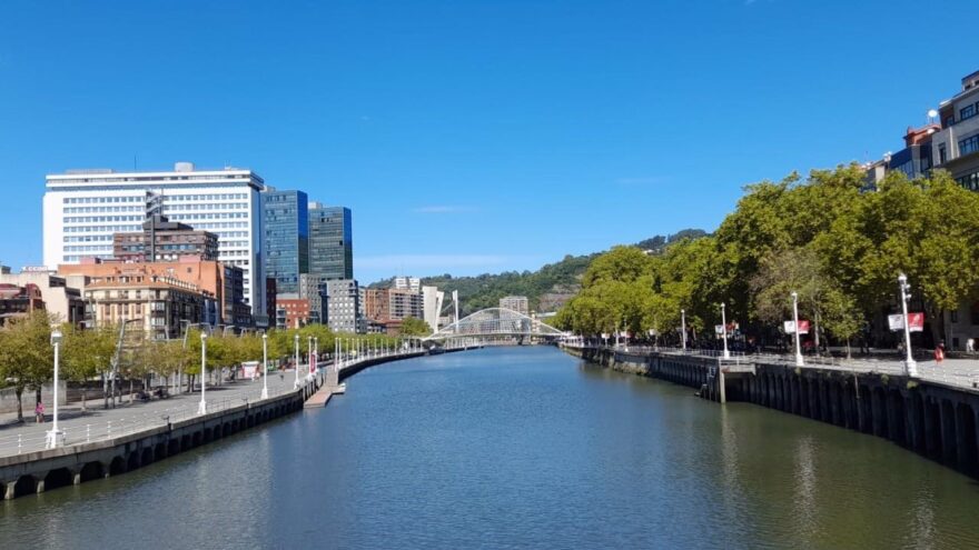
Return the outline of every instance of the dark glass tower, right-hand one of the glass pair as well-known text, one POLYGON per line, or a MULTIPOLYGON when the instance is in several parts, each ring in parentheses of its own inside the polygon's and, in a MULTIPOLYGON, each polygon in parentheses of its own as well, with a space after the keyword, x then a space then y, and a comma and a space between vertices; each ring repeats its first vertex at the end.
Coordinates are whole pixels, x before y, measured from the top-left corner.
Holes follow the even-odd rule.
POLYGON ((309 203, 309 273, 320 281, 354 278, 350 209, 309 203))

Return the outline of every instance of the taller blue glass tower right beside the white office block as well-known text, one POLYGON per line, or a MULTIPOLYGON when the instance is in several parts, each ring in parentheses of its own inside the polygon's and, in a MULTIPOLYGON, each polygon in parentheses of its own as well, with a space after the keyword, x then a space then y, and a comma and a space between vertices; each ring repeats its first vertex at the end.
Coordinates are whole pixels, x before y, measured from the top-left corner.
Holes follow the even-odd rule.
POLYGON ((309 271, 308 200, 303 191, 261 193, 265 214, 265 274, 279 293, 299 292, 299 276, 309 271))

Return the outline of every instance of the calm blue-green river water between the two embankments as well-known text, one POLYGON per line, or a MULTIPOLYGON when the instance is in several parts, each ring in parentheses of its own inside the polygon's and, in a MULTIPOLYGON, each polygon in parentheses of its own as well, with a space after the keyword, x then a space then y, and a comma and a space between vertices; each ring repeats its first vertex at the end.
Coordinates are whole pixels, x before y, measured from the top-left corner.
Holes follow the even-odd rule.
POLYGON ((887 441, 554 348, 377 367, 347 394, 0 503, 0 548, 979 548, 979 486, 887 441))

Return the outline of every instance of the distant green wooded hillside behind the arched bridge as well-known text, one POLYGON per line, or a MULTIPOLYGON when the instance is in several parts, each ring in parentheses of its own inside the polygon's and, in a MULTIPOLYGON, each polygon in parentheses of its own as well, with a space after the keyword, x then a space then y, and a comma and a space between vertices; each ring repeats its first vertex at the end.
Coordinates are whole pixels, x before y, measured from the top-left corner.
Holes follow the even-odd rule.
MULTIPOLYGON (((635 246, 660 253, 665 246, 676 239, 699 238, 706 232, 700 229, 684 229, 671 236, 655 236, 635 246)), ((484 308, 496 307, 505 296, 526 296, 533 311, 555 311, 581 289, 581 278, 592 260, 602 252, 586 256, 565 256, 561 261, 548 263, 537 271, 504 271, 483 273, 475 277, 453 277, 448 273, 438 277, 423 277, 422 284, 435 286, 446 293, 449 303, 452 291, 457 290, 462 303, 461 314, 466 316, 484 308)), ((372 288, 388 288, 393 279, 375 282, 372 288)))

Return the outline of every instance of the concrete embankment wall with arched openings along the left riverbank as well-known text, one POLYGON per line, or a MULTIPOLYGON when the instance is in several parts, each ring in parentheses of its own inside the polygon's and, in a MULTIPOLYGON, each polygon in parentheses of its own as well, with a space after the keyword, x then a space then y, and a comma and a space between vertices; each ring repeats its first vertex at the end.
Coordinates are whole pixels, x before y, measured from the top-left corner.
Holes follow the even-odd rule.
MULTIPOLYGON (((424 354, 418 352, 362 360, 343 369, 339 380, 376 364, 424 354)), ((300 411, 304 403, 314 396, 318 394, 322 399, 323 394, 317 390, 327 390, 337 382, 337 373, 327 369, 296 390, 268 399, 243 401, 237 407, 191 416, 179 421, 168 420, 162 426, 117 438, 0 457, 0 496, 10 500, 125 473, 300 411)), ((326 401, 323 399, 320 407, 326 401)))

